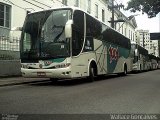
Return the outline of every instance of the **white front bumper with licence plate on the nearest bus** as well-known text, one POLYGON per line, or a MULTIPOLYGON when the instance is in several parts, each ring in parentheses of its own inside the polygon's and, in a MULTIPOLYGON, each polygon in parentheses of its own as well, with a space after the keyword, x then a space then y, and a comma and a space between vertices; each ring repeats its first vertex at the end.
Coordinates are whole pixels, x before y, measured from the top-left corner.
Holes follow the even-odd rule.
POLYGON ((59 69, 25 69, 21 68, 23 77, 30 78, 72 78, 70 67, 59 69))

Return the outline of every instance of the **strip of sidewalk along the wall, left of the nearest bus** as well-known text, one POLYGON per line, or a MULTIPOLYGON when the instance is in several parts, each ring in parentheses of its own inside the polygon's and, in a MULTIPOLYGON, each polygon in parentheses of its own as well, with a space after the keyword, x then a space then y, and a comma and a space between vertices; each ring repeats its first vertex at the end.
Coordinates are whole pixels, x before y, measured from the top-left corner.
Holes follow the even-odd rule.
POLYGON ((21 85, 34 82, 48 81, 48 78, 24 78, 24 77, 1 77, 0 76, 0 87, 11 86, 11 85, 21 85))

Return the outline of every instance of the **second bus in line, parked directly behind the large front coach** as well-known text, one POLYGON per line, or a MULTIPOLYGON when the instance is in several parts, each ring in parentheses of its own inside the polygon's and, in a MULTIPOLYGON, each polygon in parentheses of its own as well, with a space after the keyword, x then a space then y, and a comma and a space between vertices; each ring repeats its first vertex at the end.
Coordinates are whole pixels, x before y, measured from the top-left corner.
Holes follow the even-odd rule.
POLYGON ((148 50, 136 43, 131 44, 131 57, 133 59, 133 72, 142 72, 150 69, 148 50))

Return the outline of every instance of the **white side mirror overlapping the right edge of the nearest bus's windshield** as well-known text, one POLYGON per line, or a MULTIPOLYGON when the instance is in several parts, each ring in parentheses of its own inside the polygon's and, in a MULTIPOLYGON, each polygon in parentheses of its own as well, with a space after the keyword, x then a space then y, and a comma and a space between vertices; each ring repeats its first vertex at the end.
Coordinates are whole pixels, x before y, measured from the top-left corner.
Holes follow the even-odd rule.
POLYGON ((72 24, 73 24, 73 20, 68 20, 66 25, 65 25, 65 36, 66 36, 66 38, 71 38, 72 37, 72 24))

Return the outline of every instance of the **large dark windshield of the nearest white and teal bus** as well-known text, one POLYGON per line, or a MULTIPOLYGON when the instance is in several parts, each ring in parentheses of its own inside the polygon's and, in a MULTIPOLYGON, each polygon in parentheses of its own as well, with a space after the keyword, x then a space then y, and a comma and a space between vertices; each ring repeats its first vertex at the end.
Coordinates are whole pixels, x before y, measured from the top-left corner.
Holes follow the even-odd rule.
POLYGON ((49 59, 70 55, 65 25, 71 10, 43 11, 26 17, 21 38, 21 59, 49 59))

